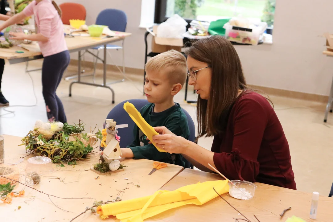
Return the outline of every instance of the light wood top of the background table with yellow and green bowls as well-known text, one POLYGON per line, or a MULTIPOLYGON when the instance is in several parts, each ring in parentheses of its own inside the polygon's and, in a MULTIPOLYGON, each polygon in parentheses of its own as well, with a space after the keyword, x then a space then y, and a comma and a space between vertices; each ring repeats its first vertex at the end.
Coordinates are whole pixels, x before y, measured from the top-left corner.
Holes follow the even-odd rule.
MULTIPOLYGON (((65 25, 65 33, 69 33, 69 26, 65 25)), ((83 32, 75 32, 75 33, 83 33, 83 32)), ((92 48, 95 46, 109 44, 111 42, 119 41, 131 35, 131 33, 125 32, 116 32, 117 36, 106 38, 106 35, 102 35, 101 37, 90 37, 90 36, 75 36, 75 37, 65 37, 68 50, 70 52, 76 52, 79 50, 84 50, 87 48, 92 48)), ((33 42, 31 44, 21 44, 24 48, 19 46, 14 46, 9 49, 1 49, 0 48, 0 59, 6 59, 11 61, 20 61, 20 58, 32 58, 34 56, 41 56, 41 51, 37 42, 33 42), (28 50, 27 50, 28 49, 28 50), (24 53, 16 53, 16 51, 23 51, 24 53)), ((42 57, 40 57, 42 58, 42 57)), ((23 61, 24 62, 24 61, 23 61)))

